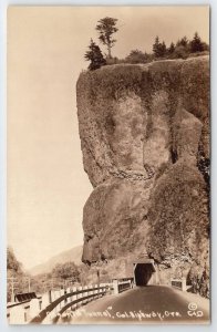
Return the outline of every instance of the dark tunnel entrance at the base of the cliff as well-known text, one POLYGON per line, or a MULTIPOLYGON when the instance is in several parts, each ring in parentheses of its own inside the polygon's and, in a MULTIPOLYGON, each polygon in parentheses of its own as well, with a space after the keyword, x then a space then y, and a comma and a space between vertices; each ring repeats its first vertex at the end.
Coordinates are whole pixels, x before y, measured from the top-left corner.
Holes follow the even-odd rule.
POLYGON ((153 274, 155 272, 154 262, 152 260, 134 263, 134 282, 136 286, 146 286, 153 283, 153 274))

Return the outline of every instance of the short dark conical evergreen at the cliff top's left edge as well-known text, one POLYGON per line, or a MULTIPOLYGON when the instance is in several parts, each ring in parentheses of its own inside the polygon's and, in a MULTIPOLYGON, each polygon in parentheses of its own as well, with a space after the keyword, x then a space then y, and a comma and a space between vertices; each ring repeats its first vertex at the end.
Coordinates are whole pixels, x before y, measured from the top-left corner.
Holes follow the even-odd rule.
POLYGON ((89 51, 86 51, 84 55, 86 61, 91 61, 89 65, 89 70, 94 71, 102 65, 106 64, 105 59, 103 58, 103 54, 101 52, 101 49, 99 45, 96 45, 93 40, 91 39, 91 43, 89 45, 89 51))

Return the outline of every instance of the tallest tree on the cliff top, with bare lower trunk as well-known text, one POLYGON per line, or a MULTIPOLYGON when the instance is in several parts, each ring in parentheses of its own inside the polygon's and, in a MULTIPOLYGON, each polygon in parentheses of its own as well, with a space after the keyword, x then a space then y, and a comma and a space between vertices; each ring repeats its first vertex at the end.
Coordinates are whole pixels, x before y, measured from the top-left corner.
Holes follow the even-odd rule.
POLYGON ((113 33, 118 31, 118 29, 116 28, 117 19, 106 17, 97 22, 99 24, 96 25, 95 30, 99 32, 100 41, 107 46, 107 58, 111 59, 111 49, 116 42, 116 40, 113 39, 112 35, 113 33))

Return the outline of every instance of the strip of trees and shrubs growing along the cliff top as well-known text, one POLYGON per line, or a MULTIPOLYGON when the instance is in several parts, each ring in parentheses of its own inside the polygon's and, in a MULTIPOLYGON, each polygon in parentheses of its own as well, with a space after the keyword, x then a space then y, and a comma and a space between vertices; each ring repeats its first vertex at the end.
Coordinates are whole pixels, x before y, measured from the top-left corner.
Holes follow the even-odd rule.
POLYGON ((91 40, 90 51, 85 53, 85 59, 91 61, 89 70, 100 69, 102 65, 112 65, 121 63, 148 63, 155 60, 166 59, 187 59, 190 56, 198 56, 208 54, 209 46, 203 42, 197 32, 194 38, 188 40, 187 37, 183 37, 176 43, 170 42, 169 46, 166 46, 165 41, 161 41, 159 37, 155 38, 153 43, 153 53, 143 52, 141 50, 132 50, 125 59, 112 58, 111 49, 114 46, 116 40, 112 38, 113 33, 117 32, 116 28, 117 19, 104 18, 99 21, 96 31, 99 32, 100 41, 107 48, 107 56, 104 59, 100 48, 91 40))

